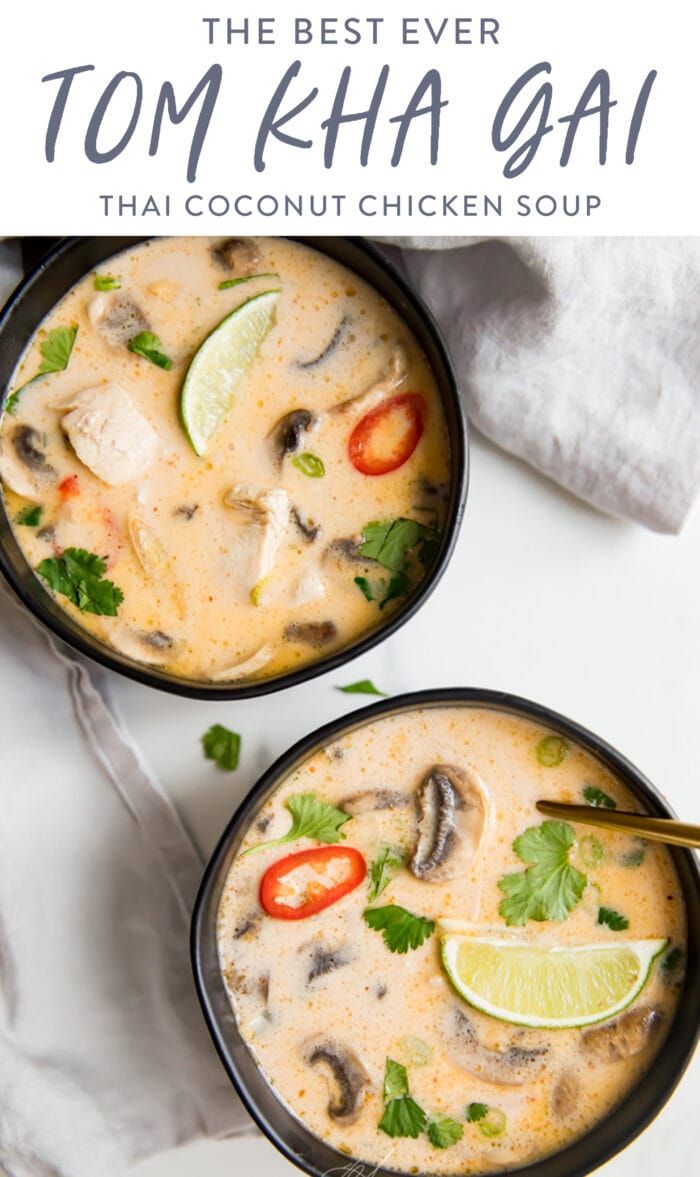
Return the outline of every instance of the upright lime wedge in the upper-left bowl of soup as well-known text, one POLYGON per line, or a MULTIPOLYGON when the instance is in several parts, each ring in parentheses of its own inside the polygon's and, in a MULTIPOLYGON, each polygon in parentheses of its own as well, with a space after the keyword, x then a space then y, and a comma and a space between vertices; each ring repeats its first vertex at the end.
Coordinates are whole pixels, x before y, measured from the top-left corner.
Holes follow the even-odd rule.
POLYGON ((272 327, 279 291, 254 294, 236 306, 195 352, 180 393, 180 415, 200 457, 231 408, 272 327))

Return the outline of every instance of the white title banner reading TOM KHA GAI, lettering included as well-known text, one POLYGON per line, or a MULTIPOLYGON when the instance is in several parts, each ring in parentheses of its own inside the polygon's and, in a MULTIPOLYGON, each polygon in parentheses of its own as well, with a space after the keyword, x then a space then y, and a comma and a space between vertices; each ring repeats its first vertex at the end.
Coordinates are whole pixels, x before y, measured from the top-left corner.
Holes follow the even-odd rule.
POLYGON ((687 0, 1 20, 6 235, 700 232, 687 0))

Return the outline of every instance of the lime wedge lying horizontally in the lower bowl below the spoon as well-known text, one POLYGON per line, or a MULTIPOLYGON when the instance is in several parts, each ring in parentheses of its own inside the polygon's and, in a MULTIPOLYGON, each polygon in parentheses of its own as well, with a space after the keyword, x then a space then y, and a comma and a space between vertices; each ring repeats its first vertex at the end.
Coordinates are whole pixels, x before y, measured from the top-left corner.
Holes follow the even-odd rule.
POLYGON ((605 1022, 641 992, 666 940, 576 947, 448 933, 445 971, 460 997, 501 1022, 564 1030, 605 1022))

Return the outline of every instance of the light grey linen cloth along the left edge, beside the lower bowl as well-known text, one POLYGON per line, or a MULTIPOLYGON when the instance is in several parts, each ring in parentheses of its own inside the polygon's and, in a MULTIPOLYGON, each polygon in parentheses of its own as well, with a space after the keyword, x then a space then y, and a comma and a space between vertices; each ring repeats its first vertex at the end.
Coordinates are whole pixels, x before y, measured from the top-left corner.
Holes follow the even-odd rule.
POLYGON ((0 684, 0 1171, 116 1177, 252 1131, 191 977, 194 845, 105 677, 5 588, 0 684))

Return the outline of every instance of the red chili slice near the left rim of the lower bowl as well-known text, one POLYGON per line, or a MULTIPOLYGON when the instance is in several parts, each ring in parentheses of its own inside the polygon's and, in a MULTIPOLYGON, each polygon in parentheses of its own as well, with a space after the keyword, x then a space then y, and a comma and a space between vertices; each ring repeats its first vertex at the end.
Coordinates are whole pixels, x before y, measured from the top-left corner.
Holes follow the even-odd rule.
POLYGON ((300 850, 268 866, 260 880, 260 903, 274 919, 306 919, 354 891, 366 875, 367 864, 352 846, 300 850))

